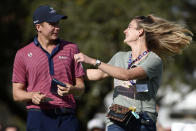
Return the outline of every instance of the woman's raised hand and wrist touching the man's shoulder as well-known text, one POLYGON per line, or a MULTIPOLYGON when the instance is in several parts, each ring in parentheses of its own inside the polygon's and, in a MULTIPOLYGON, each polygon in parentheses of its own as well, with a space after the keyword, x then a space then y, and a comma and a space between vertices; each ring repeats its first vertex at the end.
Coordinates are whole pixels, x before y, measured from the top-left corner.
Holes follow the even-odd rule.
POLYGON ((74 59, 76 62, 84 62, 86 64, 95 65, 96 60, 94 58, 91 58, 83 53, 78 53, 74 55, 74 59))

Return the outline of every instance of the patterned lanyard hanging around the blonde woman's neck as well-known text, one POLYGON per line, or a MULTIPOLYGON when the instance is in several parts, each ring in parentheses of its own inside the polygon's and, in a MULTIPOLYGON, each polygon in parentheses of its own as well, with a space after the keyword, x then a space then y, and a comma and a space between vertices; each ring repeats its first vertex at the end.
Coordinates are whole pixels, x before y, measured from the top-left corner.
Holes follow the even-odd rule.
MULTIPOLYGON (((128 63, 128 69, 131 68, 131 66, 138 60, 142 59, 143 56, 147 55, 150 52, 150 50, 144 51, 142 54, 140 54, 135 60, 132 61, 132 54, 129 57, 129 63, 128 63)), ((136 84, 135 80, 130 80, 130 83, 134 86, 136 84)))

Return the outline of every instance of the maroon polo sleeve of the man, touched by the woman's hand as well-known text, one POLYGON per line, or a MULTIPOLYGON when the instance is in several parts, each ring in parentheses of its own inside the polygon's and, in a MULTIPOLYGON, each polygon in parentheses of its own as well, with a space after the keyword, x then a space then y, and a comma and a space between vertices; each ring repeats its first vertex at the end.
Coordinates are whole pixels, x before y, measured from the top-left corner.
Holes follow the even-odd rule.
MULTIPOLYGON (((75 51, 74 51, 74 54, 77 54, 79 53, 79 49, 78 47, 75 48, 75 51)), ((84 71, 84 68, 83 68, 83 65, 81 62, 76 62, 74 60, 74 65, 75 65, 75 77, 81 77, 81 76, 84 76, 85 75, 85 71, 84 71)))

